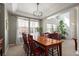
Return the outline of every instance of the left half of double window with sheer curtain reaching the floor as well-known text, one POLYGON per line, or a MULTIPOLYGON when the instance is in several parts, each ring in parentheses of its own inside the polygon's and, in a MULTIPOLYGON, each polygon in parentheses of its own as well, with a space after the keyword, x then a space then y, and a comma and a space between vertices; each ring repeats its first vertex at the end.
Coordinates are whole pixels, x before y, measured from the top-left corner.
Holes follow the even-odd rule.
POLYGON ((28 18, 22 18, 18 17, 17 20, 17 40, 16 43, 20 44, 22 43, 22 33, 28 33, 29 32, 29 21, 28 18))

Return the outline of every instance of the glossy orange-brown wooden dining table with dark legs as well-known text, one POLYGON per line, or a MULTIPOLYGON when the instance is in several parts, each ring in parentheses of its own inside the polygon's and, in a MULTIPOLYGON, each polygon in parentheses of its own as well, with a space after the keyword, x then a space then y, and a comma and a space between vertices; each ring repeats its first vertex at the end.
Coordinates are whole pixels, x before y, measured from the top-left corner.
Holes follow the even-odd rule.
POLYGON ((45 49, 45 55, 48 56, 48 50, 52 47, 59 47, 59 56, 62 56, 62 40, 51 39, 47 37, 39 37, 34 40, 41 48, 45 49))

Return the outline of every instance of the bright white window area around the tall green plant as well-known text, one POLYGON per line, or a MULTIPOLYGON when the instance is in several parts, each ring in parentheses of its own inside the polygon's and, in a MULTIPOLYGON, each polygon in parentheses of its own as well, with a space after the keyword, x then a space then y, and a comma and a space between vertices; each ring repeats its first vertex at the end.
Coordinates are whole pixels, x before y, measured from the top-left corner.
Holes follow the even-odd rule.
POLYGON ((66 12, 60 15, 53 15, 48 17, 46 20, 46 32, 57 31, 57 26, 59 25, 60 20, 63 20, 66 24, 67 30, 70 27, 70 13, 66 12))

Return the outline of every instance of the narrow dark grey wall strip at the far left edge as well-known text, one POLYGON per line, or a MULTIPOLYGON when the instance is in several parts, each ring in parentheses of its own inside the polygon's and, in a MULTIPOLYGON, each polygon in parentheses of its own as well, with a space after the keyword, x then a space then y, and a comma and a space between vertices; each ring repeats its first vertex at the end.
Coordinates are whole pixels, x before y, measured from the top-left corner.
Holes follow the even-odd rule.
MULTIPOLYGON (((2 36, 3 40, 5 41, 5 20, 4 20, 4 4, 0 3, 0 36, 2 36)), ((5 52, 3 42, 3 52, 5 52)))

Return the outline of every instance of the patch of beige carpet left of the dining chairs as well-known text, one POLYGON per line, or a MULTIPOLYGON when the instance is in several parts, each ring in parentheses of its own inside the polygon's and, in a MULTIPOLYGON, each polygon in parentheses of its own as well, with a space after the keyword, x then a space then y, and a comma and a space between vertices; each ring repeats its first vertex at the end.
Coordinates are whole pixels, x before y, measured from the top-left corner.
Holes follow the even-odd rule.
POLYGON ((6 56, 25 56, 23 46, 22 45, 10 46, 6 53, 6 56))

